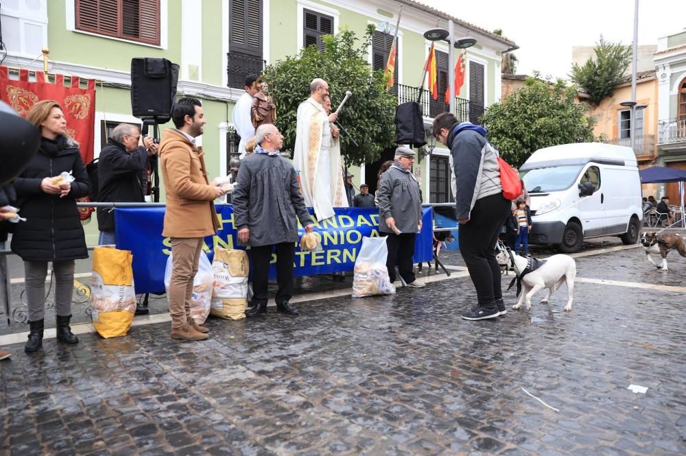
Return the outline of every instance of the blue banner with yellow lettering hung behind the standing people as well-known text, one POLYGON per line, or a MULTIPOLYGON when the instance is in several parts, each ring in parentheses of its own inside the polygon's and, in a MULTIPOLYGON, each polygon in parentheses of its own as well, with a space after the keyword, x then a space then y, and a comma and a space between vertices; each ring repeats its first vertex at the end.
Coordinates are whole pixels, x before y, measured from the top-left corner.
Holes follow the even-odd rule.
MULTIPOLYGON (((312 210, 310 209, 310 213, 312 210)), ((233 224, 233 206, 217 204, 217 216, 222 228, 214 236, 205 238, 204 251, 210 261, 215 247, 244 249, 238 245, 237 229, 233 224)), ((136 293, 158 293, 165 290, 164 276, 171 241, 161 235, 165 208, 116 208, 115 232, 117 248, 133 253, 133 276, 136 293)), ((296 244, 294 274, 313 276, 333 272, 352 271, 362 237, 379 236, 379 210, 375 208, 335 208, 335 216, 322 223, 312 220, 314 230, 322 238, 324 250, 305 252, 296 244)), ((414 263, 431 261, 431 208, 423 209, 422 230, 414 245, 414 263)), ((305 230, 298 225, 299 235, 305 230)), ((248 254, 250 250, 248 249, 248 254)), ((275 258, 269 269, 270 279, 276 278, 275 258)), ((252 266, 251 266, 252 267, 252 266)))

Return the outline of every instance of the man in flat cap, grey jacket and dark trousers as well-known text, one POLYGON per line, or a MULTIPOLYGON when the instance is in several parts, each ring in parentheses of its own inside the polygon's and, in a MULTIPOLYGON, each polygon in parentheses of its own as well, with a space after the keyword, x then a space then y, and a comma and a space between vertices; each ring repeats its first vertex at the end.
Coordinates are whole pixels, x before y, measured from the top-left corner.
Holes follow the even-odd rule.
POLYGON ((414 238, 422 229, 422 197, 419 182, 412 175, 414 152, 409 147, 395 149, 395 160, 379 180, 379 231, 388 236, 388 276, 395 281, 395 267, 407 287, 421 288, 412 270, 414 238))

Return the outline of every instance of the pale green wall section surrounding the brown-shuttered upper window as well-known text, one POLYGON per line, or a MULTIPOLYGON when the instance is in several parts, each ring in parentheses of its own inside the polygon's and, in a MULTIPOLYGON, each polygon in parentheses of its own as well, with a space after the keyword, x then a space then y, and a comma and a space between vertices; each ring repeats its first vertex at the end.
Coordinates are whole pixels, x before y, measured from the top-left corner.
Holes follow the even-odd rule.
POLYGON ((113 40, 97 35, 67 30, 67 12, 64 1, 47 2, 49 21, 47 43, 50 58, 84 64, 89 67, 129 71, 132 57, 165 57, 172 62, 181 61, 181 2, 169 1, 169 49, 158 49, 113 40))

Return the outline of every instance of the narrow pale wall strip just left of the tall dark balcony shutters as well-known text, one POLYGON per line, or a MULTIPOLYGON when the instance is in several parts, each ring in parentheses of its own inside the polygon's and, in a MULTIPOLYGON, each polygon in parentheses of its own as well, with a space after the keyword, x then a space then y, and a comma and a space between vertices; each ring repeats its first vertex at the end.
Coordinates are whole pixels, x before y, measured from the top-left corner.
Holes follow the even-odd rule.
MULTIPOLYGON (((228 12, 227 12, 228 14, 228 12)), ((222 56, 222 23, 228 21, 222 12, 222 0, 202 2, 202 82, 222 86, 226 72, 222 56)))

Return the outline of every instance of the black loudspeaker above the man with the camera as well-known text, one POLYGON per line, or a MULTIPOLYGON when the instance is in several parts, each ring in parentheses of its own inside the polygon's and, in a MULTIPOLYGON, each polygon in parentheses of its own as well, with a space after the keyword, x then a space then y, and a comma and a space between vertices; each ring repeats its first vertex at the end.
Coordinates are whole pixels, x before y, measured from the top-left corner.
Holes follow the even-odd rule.
POLYGON ((177 64, 165 58, 132 58, 131 110, 134 117, 168 122, 177 82, 177 64))

